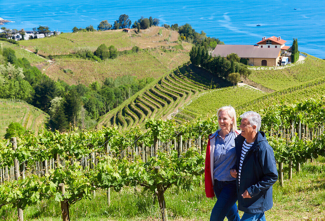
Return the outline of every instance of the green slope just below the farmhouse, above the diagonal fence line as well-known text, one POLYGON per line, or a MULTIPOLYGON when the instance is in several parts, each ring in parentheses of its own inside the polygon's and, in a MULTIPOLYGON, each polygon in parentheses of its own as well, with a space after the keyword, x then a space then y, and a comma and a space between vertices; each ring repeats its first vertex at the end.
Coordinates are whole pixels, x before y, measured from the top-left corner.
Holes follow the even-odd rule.
POLYGON ((249 79, 263 86, 282 90, 325 76, 325 61, 308 55, 303 64, 280 70, 254 70, 249 79))

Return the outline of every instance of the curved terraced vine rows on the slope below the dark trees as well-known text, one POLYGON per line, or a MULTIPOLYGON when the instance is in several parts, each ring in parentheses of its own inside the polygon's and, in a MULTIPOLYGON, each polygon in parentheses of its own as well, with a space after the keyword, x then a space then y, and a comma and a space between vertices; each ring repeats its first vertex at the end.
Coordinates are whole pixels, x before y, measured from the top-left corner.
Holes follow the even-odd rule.
POLYGON ((204 90, 229 85, 210 73, 185 64, 164 76, 156 85, 121 107, 115 114, 108 114, 100 124, 128 129, 141 125, 146 117, 170 118, 190 98, 204 90))

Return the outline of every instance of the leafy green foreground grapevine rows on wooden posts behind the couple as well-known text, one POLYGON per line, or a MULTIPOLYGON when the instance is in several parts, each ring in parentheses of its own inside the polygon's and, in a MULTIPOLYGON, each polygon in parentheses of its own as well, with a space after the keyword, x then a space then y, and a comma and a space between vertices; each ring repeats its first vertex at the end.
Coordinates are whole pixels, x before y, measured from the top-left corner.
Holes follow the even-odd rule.
MULTIPOLYGON (((299 174, 301 164, 325 156, 324 106, 322 97, 269 105, 260 113, 261 130, 267 131, 279 165, 279 186, 287 182, 286 165, 291 180, 294 167, 299 174)), ((31 132, 17 140, 3 140, 0 205, 17 206, 18 214, 23 214, 32 205, 54 200, 61 203, 61 215, 69 220, 69 206, 78 200, 91 200, 105 191, 110 207, 115 200, 110 188, 120 191, 129 186, 138 191, 142 186, 154 194, 160 219, 168 220, 172 215, 164 193, 175 187, 195 191, 200 186, 207 137, 217 128, 216 116, 181 125, 150 118, 143 128, 131 131, 120 132, 116 127, 43 131, 39 136, 31 132)))

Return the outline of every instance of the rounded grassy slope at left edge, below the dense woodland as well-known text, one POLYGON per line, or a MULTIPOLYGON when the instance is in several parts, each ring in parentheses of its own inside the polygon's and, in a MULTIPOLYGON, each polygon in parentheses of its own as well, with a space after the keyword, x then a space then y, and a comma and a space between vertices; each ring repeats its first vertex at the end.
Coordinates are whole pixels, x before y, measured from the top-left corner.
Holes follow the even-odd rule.
POLYGON ((40 109, 20 101, 0 99, 0 136, 5 135, 11 122, 19 122, 24 128, 38 132, 48 115, 40 109))

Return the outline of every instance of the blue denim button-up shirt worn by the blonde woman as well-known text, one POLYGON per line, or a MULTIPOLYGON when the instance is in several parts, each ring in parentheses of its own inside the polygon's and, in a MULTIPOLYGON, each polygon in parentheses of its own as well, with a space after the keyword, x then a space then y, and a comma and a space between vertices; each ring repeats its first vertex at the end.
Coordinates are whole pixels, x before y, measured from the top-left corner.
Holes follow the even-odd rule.
POLYGON ((232 181, 236 179, 230 175, 230 168, 236 164, 235 132, 230 131, 224 140, 219 131, 215 134, 213 176, 219 181, 232 181))

